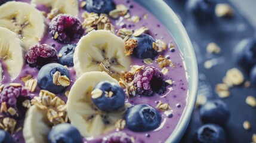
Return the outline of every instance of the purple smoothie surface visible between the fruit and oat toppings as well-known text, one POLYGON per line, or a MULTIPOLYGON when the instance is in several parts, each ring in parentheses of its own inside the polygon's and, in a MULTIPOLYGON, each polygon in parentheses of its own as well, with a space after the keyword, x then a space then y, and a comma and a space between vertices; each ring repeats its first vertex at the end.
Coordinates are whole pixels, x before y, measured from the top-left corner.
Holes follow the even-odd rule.
MULTIPOLYGON (((30 2, 29 0, 20 0, 23 2, 30 2)), ((81 2, 82 0, 79 0, 81 2)), ((132 132, 131 130, 125 128, 122 130, 122 132, 127 133, 130 136, 133 136, 135 139, 135 142, 165 142, 166 139, 171 135, 175 127, 178 125, 178 122, 181 118, 181 115, 183 114, 184 108, 186 107, 187 104, 187 92, 188 92, 188 81, 186 77, 186 70, 183 64, 183 57, 180 54, 180 51, 178 49, 177 43, 175 43, 174 39, 171 36, 171 33, 166 30, 166 28, 161 24, 161 22, 152 14, 150 14, 149 11, 147 11, 145 8, 141 7, 138 5, 136 2, 131 1, 131 0, 114 0, 116 4, 124 4, 129 8, 129 14, 132 15, 138 15, 141 17, 141 20, 138 23, 134 23, 132 21, 127 21, 125 18, 120 17, 117 20, 112 20, 112 24, 115 26, 116 31, 118 29, 121 29, 123 27, 126 27, 127 29, 140 29, 143 26, 146 26, 149 28, 149 34, 154 38, 154 39, 161 39, 162 41, 166 43, 172 43, 175 47, 175 50, 170 51, 168 48, 164 51, 161 52, 160 54, 162 55, 169 55, 169 60, 174 63, 175 67, 167 67, 169 69, 168 74, 165 74, 164 79, 172 79, 173 85, 167 86, 167 90, 164 95, 158 95, 155 94, 152 97, 141 97, 136 95, 135 97, 129 98, 127 102, 130 102, 133 105, 136 104, 149 104, 152 107, 156 107, 159 101, 163 103, 168 103, 169 106, 172 108, 172 114, 167 116, 164 111, 159 111, 159 113, 162 116, 162 122, 161 126, 159 126, 158 129, 149 131, 149 132, 132 132), (143 15, 147 14, 147 18, 144 19, 143 15)), ((48 8, 44 7, 44 5, 37 5, 36 8, 41 11, 49 11, 48 8)), ((81 21, 84 21, 84 19, 81 17, 81 14, 84 13, 84 10, 80 9, 79 11, 79 19, 81 21)), ((50 23, 50 20, 47 20, 47 23, 50 23)), ((76 41, 72 41, 71 43, 77 43, 79 39, 76 39, 76 41)), ((48 45, 54 46, 57 51, 60 50, 60 48, 64 45, 61 43, 58 43, 57 41, 54 41, 52 36, 50 35, 50 32, 47 31, 46 35, 42 39, 41 43, 47 43, 48 45)), ((137 59, 137 58, 132 58, 132 65, 145 65, 143 63, 143 60, 137 59)), ((151 66, 154 66, 158 68, 159 70, 162 70, 158 65, 154 62, 151 66)), ((4 67, 4 65, 3 65, 4 67)), ((5 83, 10 83, 10 82, 16 82, 16 83, 22 83, 20 78, 26 76, 27 74, 32 74, 33 78, 36 79, 38 75, 38 69, 29 67, 28 65, 25 65, 23 67, 23 70, 19 74, 19 76, 11 80, 10 77, 8 76, 8 73, 6 72, 4 68, 4 79, 2 80, 2 84, 5 83)), ((75 70, 73 67, 69 68, 69 73, 71 77, 71 84, 67 90, 70 90, 72 87, 73 83, 76 80, 75 76, 75 70)), ((40 91, 40 88, 37 86, 35 92, 30 93, 30 96, 38 96, 40 91)), ((64 93, 58 94, 58 97, 62 98, 64 101, 67 100, 66 96, 64 93)), ((23 120, 21 120, 20 125, 23 125, 23 120)), ((112 132, 115 132, 113 130, 112 132)), ((112 133, 110 132, 110 133, 112 133)), ((101 141, 101 138, 107 135, 101 135, 98 136, 97 138, 84 138, 85 142, 99 142, 101 141)), ((22 136, 22 131, 15 133, 13 135, 14 139, 17 142, 24 142, 23 136, 22 136)))

